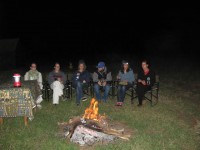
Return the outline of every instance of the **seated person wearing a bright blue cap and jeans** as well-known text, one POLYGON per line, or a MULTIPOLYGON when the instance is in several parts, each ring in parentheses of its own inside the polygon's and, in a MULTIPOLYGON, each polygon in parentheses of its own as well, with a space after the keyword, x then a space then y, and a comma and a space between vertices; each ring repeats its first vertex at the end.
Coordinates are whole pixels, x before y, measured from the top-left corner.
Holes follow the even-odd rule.
POLYGON ((106 102, 112 81, 111 72, 107 70, 104 62, 99 62, 96 68, 97 70, 93 73, 95 96, 98 101, 106 102), (100 94, 101 89, 104 90, 103 97, 100 94))

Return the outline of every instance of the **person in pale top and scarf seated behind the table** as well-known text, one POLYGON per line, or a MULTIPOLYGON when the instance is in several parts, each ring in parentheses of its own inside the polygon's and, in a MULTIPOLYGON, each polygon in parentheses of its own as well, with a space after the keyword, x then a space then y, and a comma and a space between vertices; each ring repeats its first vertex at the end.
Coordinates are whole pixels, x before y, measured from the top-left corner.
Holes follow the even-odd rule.
MULTIPOLYGON (((39 85, 40 89, 42 90, 42 88, 43 88, 42 74, 37 70, 36 63, 32 63, 30 66, 30 70, 28 72, 26 72, 26 74, 24 75, 24 81, 28 81, 28 80, 37 80, 38 85, 39 85)), ((39 95, 36 100, 36 104, 37 104, 38 108, 42 108, 42 106, 41 106, 42 101, 43 101, 42 95, 39 95)))

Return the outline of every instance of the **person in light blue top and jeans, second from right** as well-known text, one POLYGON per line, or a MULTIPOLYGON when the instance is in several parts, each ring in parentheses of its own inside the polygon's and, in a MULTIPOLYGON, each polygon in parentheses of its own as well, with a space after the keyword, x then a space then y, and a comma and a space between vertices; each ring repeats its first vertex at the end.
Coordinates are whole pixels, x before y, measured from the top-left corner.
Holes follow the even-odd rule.
POLYGON ((117 79, 119 80, 119 86, 116 106, 122 106, 126 95, 126 90, 133 85, 135 80, 133 70, 130 68, 128 61, 122 61, 122 68, 118 73, 117 79))

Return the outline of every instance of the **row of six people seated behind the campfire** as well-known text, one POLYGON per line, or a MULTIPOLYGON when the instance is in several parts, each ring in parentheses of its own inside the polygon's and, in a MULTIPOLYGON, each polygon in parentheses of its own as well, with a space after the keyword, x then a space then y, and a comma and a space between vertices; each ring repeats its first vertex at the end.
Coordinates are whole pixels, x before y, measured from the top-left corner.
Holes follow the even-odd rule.
MULTIPOLYGON (((87 100, 84 97, 83 90, 88 87, 89 83, 92 81, 94 85, 95 97, 99 102, 106 102, 108 99, 112 75, 111 71, 108 70, 104 62, 99 62, 96 66, 97 70, 91 74, 86 69, 86 64, 84 60, 78 62, 78 69, 73 73, 71 81, 72 87, 76 89, 76 104, 80 105, 81 101, 87 100), (103 96, 101 93, 103 92, 103 96)), ((42 85, 42 75, 37 71, 36 63, 32 63, 30 71, 26 72, 25 80, 37 80, 40 88, 42 85)), ((146 91, 150 90, 155 83, 155 73, 150 69, 149 63, 146 60, 141 62, 141 70, 138 71, 137 81, 135 81, 135 76, 133 70, 130 68, 128 61, 123 60, 121 64, 121 69, 117 75, 118 81, 118 92, 117 92, 117 103, 116 106, 122 106, 124 103, 126 91, 136 84, 136 93, 138 96, 138 106, 142 106, 142 101, 146 91), (134 83, 136 82, 136 83, 134 83)), ((63 97, 64 85, 67 82, 66 75, 60 70, 60 64, 55 63, 54 69, 48 75, 48 83, 53 90, 53 104, 56 106, 59 104, 59 100, 63 97)), ((41 106, 42 96, 36 101, 37 105, 41 106)))

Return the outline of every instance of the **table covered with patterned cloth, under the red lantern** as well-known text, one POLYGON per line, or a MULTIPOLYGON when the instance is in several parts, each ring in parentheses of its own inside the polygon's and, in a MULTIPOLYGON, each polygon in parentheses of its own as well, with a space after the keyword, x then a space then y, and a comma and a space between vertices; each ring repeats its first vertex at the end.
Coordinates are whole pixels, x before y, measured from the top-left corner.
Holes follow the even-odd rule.
POLYGON ((33 119, 33 107, 41 94, 37 81, 23 81, 21 87, 13 87, 10 83, 0 86, 0 124, 5 117, 24 116, 27 125, 28 118, 33 119))

